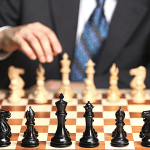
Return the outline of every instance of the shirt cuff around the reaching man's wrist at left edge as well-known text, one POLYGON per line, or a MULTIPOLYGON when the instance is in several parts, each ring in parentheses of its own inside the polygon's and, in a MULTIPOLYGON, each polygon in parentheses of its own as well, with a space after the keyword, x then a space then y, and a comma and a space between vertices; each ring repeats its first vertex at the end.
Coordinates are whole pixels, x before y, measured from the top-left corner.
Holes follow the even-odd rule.
MULTIPOLYGON (((0 28, 0 31, 11 28, 11 26, 4 26, 0 28)), ((12 52, 5 52, 4 50, 0 50, 0 61, 8 58, 12 52)))

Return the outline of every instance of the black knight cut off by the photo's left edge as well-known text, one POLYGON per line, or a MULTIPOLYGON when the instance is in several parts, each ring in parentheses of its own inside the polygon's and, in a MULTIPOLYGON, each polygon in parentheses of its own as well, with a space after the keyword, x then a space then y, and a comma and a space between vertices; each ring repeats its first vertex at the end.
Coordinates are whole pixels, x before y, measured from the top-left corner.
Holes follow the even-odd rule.
POLYGON ((0 147, 6 147, 11 144, 9 138, 11 136, 11 129, 6 119, 10 117, 11 113, 9 111, 0 109, 0 147))

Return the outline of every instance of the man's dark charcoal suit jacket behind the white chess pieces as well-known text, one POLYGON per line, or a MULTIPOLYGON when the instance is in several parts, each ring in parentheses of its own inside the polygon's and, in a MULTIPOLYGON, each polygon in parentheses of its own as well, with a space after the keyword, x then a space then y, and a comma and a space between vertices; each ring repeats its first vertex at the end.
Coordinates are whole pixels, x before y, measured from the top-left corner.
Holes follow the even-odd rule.
MULTIPOLYGON (((72 60, 75 49, 79 0, 0 0, 0 26, 18 26, 39 21, 57 34, 72 60)), ((103 47, 95 73, 98 88, 109 87, 109 69, 112 63, 119 68, 119 87, 129 88, 131 68, 147 68, 146 86, 150 88, 150 1, 118 0, 108 40, 103 47)), ((44 64, 46 79, 61 79, 60 59, 44 64)), ((38 60, 31 61, 20 51, 0 62, 0 88, 7 88, 7 69, 10 65, 25 68, 26 87, 36 83, 38 60)))

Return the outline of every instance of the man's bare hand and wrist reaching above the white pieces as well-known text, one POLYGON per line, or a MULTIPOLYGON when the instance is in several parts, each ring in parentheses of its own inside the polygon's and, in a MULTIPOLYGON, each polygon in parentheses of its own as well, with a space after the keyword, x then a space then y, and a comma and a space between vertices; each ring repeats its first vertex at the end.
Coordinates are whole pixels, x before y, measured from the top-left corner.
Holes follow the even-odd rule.
POLYGON ((53 56, 62 52, 56 34, 39 22, 1 31, 0 49, 6 52, 18 49, 32 60, 38 57, 42 63, 52 62, 53 56))

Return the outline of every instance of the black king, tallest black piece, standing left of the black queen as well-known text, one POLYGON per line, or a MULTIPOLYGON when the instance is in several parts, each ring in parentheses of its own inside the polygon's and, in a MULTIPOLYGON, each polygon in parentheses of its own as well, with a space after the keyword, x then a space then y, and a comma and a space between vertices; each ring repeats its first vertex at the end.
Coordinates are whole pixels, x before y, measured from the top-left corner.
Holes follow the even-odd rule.
POLYGON ((67 102, 63 100, 64 96, 62 93, 60 94, 59 98, 60 100, 55 103, 57 107, 56 115, 58 125, 56 133, 51 139, 50 145, 53 147, 67 147, 72 144, 69 131, 65 128, 65 118, 67 115, 65 109, 67 102))

